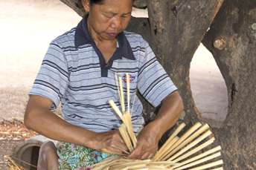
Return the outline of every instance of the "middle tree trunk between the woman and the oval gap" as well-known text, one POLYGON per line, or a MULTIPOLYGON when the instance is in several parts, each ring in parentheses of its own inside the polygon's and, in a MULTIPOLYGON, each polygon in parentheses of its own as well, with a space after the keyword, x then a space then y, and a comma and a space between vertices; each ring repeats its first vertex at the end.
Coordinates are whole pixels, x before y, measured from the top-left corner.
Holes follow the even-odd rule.
POLYGON ((201 118, 191 94, 191 59, 222 3, 223 0, 148 1, 151 46, 179 88, 188 124, 201 118))

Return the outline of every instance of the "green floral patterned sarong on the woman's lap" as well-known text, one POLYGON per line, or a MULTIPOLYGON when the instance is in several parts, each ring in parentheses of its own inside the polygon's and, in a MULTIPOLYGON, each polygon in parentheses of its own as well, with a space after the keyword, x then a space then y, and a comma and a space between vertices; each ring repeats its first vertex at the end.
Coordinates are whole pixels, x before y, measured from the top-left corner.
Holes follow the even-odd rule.
POLYGON ((57 143, 57 154, 60 170, 89 170, 95 163, 99 163, 110 155, 92 148, 63 142, 57 143))

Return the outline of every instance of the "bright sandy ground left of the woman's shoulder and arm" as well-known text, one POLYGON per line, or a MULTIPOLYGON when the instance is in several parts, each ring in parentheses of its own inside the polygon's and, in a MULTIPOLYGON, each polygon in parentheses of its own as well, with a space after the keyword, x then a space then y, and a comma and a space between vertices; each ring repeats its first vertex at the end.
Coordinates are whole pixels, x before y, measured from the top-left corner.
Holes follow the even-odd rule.
MULTIPOLYGON (((23 120, 28 91, 49 43, 75 27, 80 16, 57 0, 0 1, 0 7, 0 122, 4 123, 13 118, 23 120)), ((4 155, 11 154, 25 140, 10 135, 15 127, 0 125, 0 169, 3 170, 6 169, 4 155), (9 131, 9 137, 2 131, 9 131)))

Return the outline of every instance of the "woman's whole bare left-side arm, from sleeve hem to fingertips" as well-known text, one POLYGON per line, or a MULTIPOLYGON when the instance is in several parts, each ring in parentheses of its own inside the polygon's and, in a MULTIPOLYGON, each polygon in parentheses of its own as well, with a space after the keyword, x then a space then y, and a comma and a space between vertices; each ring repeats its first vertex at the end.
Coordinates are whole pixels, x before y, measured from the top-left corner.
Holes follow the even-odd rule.
POLYGON ((50 110, 51 105, 51 100, 31 95, 25 111, 24 122, 26 127, 45 137, 94 148, 98 151, 103 148, 114 153, 121 153, 121 149, 127 150, 118 131, 95 133, 76 125, 71 125, 56 114, 53 114, 50 110))

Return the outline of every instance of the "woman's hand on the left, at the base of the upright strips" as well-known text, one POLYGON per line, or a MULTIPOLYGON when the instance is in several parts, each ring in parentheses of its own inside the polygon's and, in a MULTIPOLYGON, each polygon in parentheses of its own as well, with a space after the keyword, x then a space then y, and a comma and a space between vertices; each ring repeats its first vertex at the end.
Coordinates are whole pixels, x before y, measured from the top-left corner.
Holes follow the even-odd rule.
POLYGON ((92 140, 92 148, 97 151, 110 152, 112 154, 127 154, 127 146, 124 143, 118 129, 95 135, 92 140))

